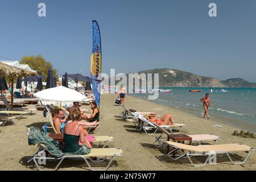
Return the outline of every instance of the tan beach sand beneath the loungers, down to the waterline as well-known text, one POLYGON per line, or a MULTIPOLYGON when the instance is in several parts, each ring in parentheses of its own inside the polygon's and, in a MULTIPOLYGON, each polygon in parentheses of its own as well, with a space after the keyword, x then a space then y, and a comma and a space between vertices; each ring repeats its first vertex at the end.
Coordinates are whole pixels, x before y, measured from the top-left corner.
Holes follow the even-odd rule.
MULTIPOLYGON (((171 160, 166 156, 166 146, 156 148, 152 143, 159 134, 147 135, 143 131, 135 130, 133 123, 124 121, 119 117, 123 111, 122 107, 114 104, 114 94, 101 95, 100 127, 94 135, 111 135, 114 142, 109 142, 109 147, 121 148, 123 156, 117 156, 109 170, 255 170, 256 152, 253 151, 246 164, 233 165, 228 158, 217 158, 217 165, 207 164, 205 167, 192 167, 189 160, 171 160)), ((35 108, 35 105, 27 105, 28 108, 35 108)), ((127 96, 125 107, 137 111, 152 111, 159 116, 171 113, 177 123, 184 123, 184 134, 214 134, 222 139, 222 143, 242 143, 251 147, 256 146, 256 139, 248 139, 233 136, 236 127, 225 125, 213 121, 213 119, 203 119, 200 115, 193 115, 185 111, 170 108, 167 106, 144 101, 139 98, 127 96), (213 125, 222 127, 213 127, 213 125)), ((89 106, 82 106, 89 109, 89 106)), ((28 146, 26 130, 30 126, 42 128, 47 123, 43 117, 43 111, 34 111, 34 115, 25 115, 19 121, 14 120, 6 126, 0 126, 0 170, 35 170, 34 163, 27 164, 28 158, 33 155, 38 147, 28 146)), ((241 159, 245 154, 232 155, 233 158, 241 159)), ((195 158, 203 161, 205 158, 195 158)), ((194 160, 195 160, 194 159, 194 160)), ((56 166, 55 162, 48 162, 48 169, 56 166)), ((92 166, 104 167, 105 162, 96 163, 92 166)), ((59 170, 82 170, 86 167, 82 161, 64 160, 59 170)))

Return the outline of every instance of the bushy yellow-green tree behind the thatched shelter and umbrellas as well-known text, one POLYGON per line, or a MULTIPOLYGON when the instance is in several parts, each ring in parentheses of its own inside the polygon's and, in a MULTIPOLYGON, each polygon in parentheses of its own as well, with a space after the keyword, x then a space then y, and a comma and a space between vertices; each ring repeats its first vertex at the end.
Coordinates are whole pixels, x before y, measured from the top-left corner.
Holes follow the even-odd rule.
POLYGON ((57 76, 57 70, 53 68, 53 65, 44 59, 42 55, 37 56, 24 56, 19 61, 20 64, 28 64, 30 68, 34 69, 35 71, 38 71, 41 73, 42 76, 47 77, 48 75, 48 69, 52 68, 53 76, 55 76, 58 79, 57 76))

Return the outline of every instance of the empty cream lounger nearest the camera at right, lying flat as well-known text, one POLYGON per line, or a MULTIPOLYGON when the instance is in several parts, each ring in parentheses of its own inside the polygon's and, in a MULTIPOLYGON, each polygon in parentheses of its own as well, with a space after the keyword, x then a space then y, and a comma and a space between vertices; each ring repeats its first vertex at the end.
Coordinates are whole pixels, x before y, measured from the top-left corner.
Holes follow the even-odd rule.
POLYGON ((254 151, 254 148, 246 146, 245 144, 238 144, 238 143, 191 146, 188 144, 166 141, 166 144, 168 144, 171 147, 174 147, 174 150, 167 154, 172 160, 177 160, 177 159, 183 158, 184 156, 187 156, 187 158, 189 159, 189 162, 191 162, 192 166, 194 167, 205 166, 207 162, 210 163, 212 162, 212 159, 217 158, 217 156, 223 156, 223 155, 227 155, 230 162, 232 162, 232 164, 244 164, 247 158, 249 157, 251 151, 254 151), (181 154, 177 158, 173 158, 171 153, 176 150, 178 151, 184 150, 184 154, 181 154), (246 152, 247 155, 241 162, 234 162, 230 154, 236 153, 236 152, 246 152), (206 156, 207 159, 205 160, 204 163, 194 164, 191 160, 192 156, 206 156))

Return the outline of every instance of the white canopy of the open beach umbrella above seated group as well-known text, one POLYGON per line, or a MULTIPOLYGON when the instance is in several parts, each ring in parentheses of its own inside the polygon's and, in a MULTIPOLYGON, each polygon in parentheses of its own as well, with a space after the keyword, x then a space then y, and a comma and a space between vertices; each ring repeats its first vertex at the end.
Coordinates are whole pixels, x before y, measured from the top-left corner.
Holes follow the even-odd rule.
POLYGON ((76 90, 66 88, 65 86, 56 86, 54 88, 42 90, 35 93, 34 96, 44 101, 57 102, 80 102, 86 99, 83 94, 77 92, 76 90))

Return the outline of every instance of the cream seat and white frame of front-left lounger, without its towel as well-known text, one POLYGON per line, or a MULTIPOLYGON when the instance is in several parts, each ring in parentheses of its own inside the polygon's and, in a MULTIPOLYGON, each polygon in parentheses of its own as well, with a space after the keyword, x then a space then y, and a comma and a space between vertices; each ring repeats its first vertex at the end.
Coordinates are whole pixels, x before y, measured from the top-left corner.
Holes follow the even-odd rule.
POLYGON ((41 156, 42 152, 46 152, 47 149, 45 148, 44 144, 39 144, 39 151, 36 152, 36 154, 34 154, 29 160, 28 163, 33 160, 37 169, 39 171, 43 171, 42 168, 40 168, 38 162, 36 161, 36 159, 42 161, 43 159, 45 160, 60 160, 60 162, 57 164, 57 166, 53 169, 53 170, 57 170, 60 166, 60 164, 63 162, 63 160, 65 158, 82 158, 84 159, 85 163, 87 164, 87 166, 89 167, 90 170, 92 171, 106 171, 109 167, 110 164, 113 162, 114 157, 115 156, 122 156, 123 155, 123 151, 119 148, 92 148, 92 150, 90 151, 89 154, 86 155, 65 155, 61 158, 56 158, 56 157, 47 157, 47 156, 41 156), (88 159, 90 160, 90 158, 92 157, 110 157, 110 161, 107 164, 107 166, 103 169, 95 169, 92 168, 92 166, 90 166, 90 163, 88 162, 88 159))

